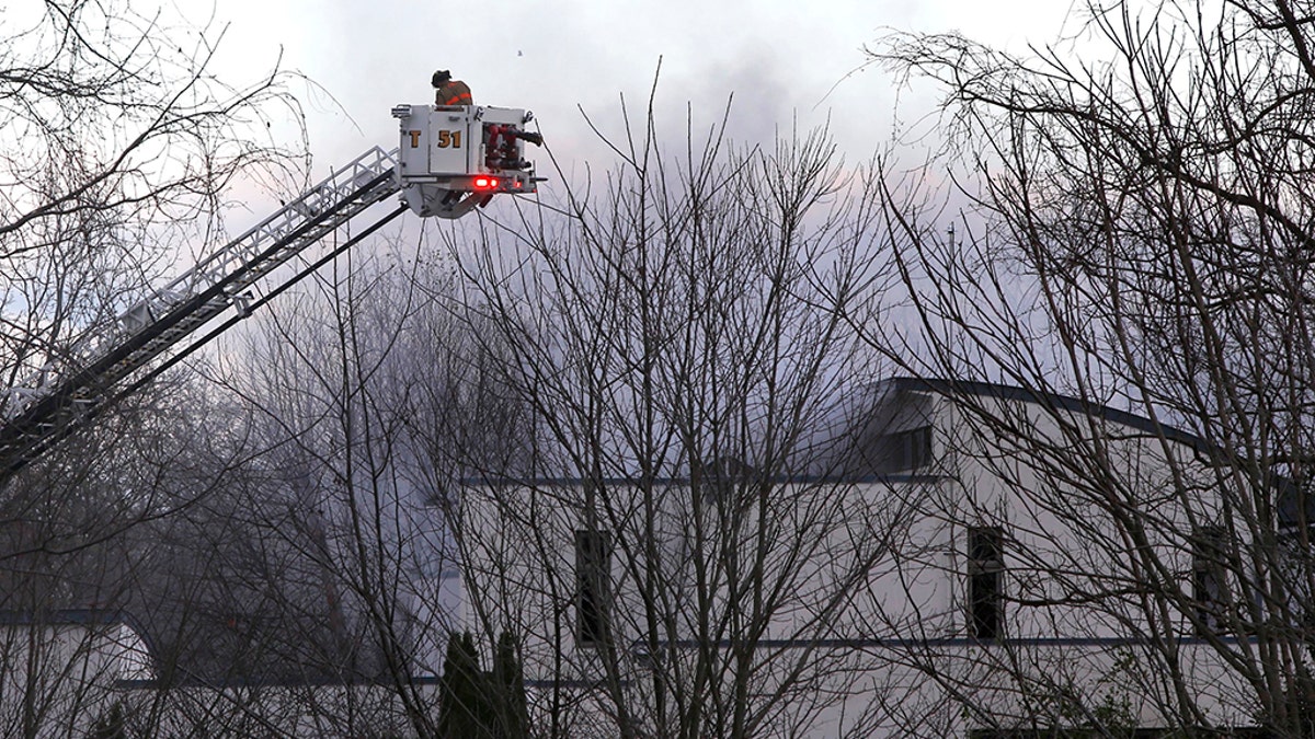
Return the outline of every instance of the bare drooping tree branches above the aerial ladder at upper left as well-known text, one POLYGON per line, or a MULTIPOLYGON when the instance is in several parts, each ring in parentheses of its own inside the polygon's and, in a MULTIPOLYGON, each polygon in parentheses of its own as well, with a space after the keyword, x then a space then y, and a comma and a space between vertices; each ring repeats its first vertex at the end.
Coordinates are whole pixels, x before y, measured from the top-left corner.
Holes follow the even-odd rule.
POLYGON ((262 138, 295 101, 277 70, 217 79, 222 33, 164 12, 51 0, 13 20, 0 39, 0 371, 26 392, 34 375, 78 368, 79 337, 179 251, 222 235, 225 188, 292 154, 262 138))

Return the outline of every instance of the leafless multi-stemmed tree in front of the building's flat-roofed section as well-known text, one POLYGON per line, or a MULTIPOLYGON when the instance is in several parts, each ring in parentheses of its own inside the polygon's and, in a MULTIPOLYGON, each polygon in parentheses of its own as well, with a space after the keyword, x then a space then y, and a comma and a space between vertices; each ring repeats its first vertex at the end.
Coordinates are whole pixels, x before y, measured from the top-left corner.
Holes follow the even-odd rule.
POLYGON ((818 644, 899 521, 853 515, 814 444, 874 371, 844 321, 873 183, 826 131, 723 130, 676 155, 650 117, 569 222, 452 239, 533 447, 443 502, 467 617, 521 640, 546 735, 793 734, 852 693, 860 655, 818 644))

